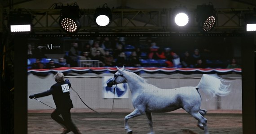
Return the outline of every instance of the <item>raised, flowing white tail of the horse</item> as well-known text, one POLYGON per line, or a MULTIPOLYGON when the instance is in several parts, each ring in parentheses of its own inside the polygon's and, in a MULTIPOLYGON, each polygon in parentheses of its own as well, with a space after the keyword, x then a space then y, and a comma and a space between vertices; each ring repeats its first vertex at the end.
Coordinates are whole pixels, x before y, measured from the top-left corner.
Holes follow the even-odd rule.
POLYGON ((212 97, 216 95, 226 96, 230 93, 230 83, 217 75, 203 74, 197 88, 206 91, 206 93, 212 95, 212 97))

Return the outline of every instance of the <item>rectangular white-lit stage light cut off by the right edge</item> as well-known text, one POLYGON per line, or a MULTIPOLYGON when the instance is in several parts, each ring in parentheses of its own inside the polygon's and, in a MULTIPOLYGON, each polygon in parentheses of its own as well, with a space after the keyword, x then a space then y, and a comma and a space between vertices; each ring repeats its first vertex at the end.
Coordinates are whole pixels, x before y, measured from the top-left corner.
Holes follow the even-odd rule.
POLYGON ((246 31, 256 31, 256 14, 245 14, 244 21, 246 24, 246 31))

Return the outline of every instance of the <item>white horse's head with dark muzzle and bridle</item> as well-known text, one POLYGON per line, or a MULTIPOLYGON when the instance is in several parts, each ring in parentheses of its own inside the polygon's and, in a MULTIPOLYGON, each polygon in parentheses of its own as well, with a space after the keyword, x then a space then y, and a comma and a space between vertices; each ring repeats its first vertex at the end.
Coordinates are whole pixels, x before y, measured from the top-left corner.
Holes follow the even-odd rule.
POLYGON ((124 66, 121 69, 119 69, 118 67, 116 67, 116 68, 118 71, 115 73, 114 77, 107 81, 108 87, 112 87, 115 84, 120 84, 120 83, 126 82, 126 80, 122 74, 122 72, 125 71, 124 66))

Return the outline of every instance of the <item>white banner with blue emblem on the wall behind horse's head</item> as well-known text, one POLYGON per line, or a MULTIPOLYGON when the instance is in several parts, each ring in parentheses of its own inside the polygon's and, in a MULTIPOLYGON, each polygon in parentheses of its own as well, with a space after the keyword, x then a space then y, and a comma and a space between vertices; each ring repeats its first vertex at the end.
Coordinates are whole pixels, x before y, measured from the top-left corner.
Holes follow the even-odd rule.
MULTIPOLYGON (((114 86, 112 87, 107 87, 106 82, 108 80, 110 80, 112 77, 111 76, 104 76, 102 79, 103 82, 103 98, 112 98, 114 97, 114 86)), ((117 84, 117 86, 115 87, 115 99, 128 99, 128 84, 124 83, 124 84, 117 84)))

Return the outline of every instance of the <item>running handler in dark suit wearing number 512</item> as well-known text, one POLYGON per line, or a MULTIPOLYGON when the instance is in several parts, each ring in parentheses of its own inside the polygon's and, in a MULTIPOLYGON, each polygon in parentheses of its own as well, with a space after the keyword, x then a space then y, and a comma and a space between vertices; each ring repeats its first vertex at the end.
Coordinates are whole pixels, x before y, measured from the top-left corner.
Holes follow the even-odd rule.
POLYGON ((51 117, 64 127, 62 134, 67 134, 71 131, 74 134, 81 134, 71 120, 70 109, 73 108, 72 100, 69 95, 71 83, 68 79, 64 81, 64 75, 62 72, 57 72, 54 75, 54 79, 57 83, 53 84, 48 91, 31 95, 29 98, 33 99, 53 95, 56 109, 51 114, 51 117), (62 115, 62 117, 59 115, 62 115))

